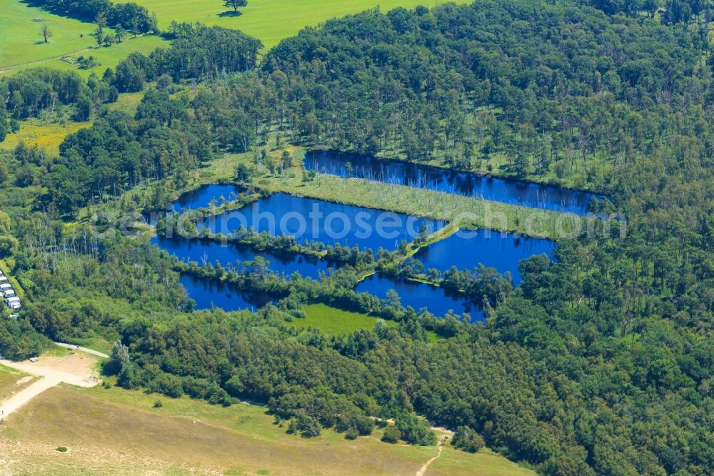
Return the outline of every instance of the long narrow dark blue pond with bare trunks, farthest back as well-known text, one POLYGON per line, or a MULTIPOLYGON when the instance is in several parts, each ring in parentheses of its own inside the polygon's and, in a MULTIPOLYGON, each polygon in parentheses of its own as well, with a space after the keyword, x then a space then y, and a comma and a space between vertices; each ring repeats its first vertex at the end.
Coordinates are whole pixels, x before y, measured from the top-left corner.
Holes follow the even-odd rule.
POLYGON ((438 167, 377 159, 358 154, 311 151, 305 156, 305 168, 316 172, 438 190, 451 194, 481 197, 486 200, 518 204, 524 207, 587 214, 588 203, 598 194, 563 189, 552 185, 516 182, 482 177, 471 172, 453 172, 438 167), (352 172, 348 171, 351 164, 352 172))

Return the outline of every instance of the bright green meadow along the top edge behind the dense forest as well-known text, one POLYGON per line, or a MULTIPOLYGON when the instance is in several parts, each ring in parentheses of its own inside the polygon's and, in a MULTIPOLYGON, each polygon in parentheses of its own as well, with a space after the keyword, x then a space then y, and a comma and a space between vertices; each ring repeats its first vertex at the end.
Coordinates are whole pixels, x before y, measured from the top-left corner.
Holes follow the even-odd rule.
MULTIPOLYGON (((388 11, 398 6, 411 9, 417 5, 435 6, 434 0, 249 0, 238 16, 223 6, 223 1, 213 0, 136 0, 149 11, 156 12, 159 27, 168 28, 171 20, 200 21, 237 29, 261 40, 266 49, 281 39, 293 36, 305 26, 316 26, 324 21, 355 14, 379 6, 388 11)), ((466 3, 466 0, 456 0, 466 3)))

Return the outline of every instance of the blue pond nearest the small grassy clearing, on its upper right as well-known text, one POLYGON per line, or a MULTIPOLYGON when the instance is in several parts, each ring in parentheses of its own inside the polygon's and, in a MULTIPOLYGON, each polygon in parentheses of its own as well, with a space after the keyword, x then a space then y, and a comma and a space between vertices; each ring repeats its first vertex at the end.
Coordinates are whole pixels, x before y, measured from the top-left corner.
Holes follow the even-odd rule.
POLYGON ((438 317, 443 317, 450 310, 455 314, 468 312, 471 314, 472 321, 483 319, 483 312, 473 302, 463 297, 455 297, 440 287, 408 281, 408 279, 373 274, 359 282, 355 291, 368 292, 384 299, 389 289, 394 289, 399 294, 402 306, 411 306, 416 311, 426 307, 431 314, 438 317))

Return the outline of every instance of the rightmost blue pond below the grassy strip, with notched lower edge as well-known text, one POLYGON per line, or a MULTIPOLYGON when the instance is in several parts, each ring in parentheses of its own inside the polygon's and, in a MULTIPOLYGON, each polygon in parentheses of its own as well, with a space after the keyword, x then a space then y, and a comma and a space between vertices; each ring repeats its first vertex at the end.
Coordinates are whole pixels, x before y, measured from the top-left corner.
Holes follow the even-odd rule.
POLYGON ((460 230, 451 237, 420 249, 414 258, 425 269, 436 268, 441 272, 456 266, 470 269, 483 264, 505 274, 511 272, 513 284, 521 282, 518 263, 534 254, 547 254, 551 259, 555 242, 549 239, 516 237, 513 234, 478 229, 475 232, 460 230))

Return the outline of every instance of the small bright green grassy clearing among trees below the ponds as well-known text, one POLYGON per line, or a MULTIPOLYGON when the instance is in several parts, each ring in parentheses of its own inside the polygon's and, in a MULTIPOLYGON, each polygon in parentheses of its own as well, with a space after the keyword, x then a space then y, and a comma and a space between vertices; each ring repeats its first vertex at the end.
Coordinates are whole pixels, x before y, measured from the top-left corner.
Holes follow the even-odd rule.
MULTIPOLYGON (((305 317, 286 322, 290 327, 308 329, 314 327, 327 335, 342 335, 358 330, 371 330, 379 319, 358 312, 343 311, 326 304, 310 304, 305 308, 305 317)), ((387 325, 395 322, 385 321, 387 325)))

